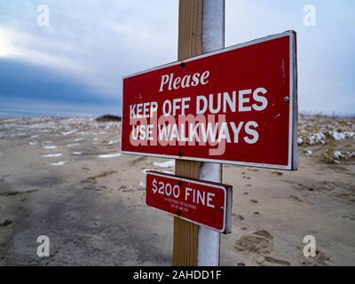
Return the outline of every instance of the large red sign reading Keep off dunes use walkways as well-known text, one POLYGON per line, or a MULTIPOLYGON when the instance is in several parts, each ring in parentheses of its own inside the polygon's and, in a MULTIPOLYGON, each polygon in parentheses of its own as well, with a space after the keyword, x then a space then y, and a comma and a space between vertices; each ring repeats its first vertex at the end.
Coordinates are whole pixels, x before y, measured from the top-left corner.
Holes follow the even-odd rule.
POLYGON ((123 78, 122 153, 296 170, 296 33, 123 78))

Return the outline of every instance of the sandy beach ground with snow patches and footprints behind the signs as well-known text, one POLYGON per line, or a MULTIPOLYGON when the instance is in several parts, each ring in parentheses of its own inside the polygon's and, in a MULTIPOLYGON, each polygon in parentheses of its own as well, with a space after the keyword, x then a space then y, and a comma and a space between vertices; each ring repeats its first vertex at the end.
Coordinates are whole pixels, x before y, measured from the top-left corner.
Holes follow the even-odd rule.
MULTIPOLYGON (((297 171, 224 165, 221 265, 355 264, 355 120, 301 116, 298 132, 297 171)), ((174 161, 120 154, 120 141, 119 122, 0 121, 0 265, 171 264, 173 218, 146 207, 145 172, 174 161), (36 255, 39 235, 51 256, 36 255)))

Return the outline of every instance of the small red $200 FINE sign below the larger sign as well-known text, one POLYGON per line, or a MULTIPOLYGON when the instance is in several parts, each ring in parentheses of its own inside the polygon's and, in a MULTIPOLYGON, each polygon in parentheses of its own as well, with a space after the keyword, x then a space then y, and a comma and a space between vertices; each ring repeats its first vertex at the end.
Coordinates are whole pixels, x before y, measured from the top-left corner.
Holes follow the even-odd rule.
POLYGON ((148 171, 146 205, 220 233, 231 233, 230 185, 148 171))

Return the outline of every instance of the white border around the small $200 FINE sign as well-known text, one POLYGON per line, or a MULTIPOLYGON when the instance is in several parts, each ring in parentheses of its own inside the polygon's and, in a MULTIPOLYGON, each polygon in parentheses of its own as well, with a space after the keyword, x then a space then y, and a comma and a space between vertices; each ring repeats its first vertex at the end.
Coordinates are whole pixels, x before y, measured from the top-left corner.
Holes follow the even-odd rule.
MULTIPOLYGON (((201 223, 193 221, 189 218, 181 217, 176 214, 170 213, 168 211, 158 209, 158 208, 153 207, 148 204, 146 204, 146 206, 153 208, 157 211, 163 212, 165 214, 169 214, 174 217, 179 217, 179 218, 184 219, 185 221, 191 222, 193 224, 201 225, 203 227, 209 228, 210 230, 216 231, 218 233, 231 233, 232 232, 232 204, 233 204, 232 198, 233 198, 233 194, 232 194, 232 186, 231 185, 225 185, 225 186, 217 185, 217 183, 214 183, 214 182, 203 181, 201 179, 197 180, 195 178, 188 178, 188 177, 178 177, 178 176, 162 173, 162 172, 155 171, 155 170, 148 170, 146 172, 146 177, 148 177, 148 175, 154 175, 154 176, 158 176, 158 177, 168 177, 171 179, 183 180, 187 183, 193 183, 193 184, 197 184, 197 185, 207 185, 207 186, 214 187, 217 189, 222 189, 225 192, 225 201, 224 201, 224 212, 223 212, 223 228, 221 230, 210 227, 209 225, 201 224, 201 223)), ((146 203, 146 199, 145 199, 145 203, 146 203)))

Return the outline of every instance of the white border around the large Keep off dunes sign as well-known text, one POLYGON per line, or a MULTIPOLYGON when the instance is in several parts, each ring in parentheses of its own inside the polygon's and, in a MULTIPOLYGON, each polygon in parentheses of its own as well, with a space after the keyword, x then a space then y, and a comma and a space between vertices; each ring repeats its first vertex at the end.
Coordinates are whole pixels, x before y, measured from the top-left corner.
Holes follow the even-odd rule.
MULTIPOLYGON (((162 65, 160 67, 154 67, 148 69, 146 71, 138 72, 132 75, 122 77, 122 80, 126 78, 130 78, 135 75, 145 74, 147 72, 151 72, 154 70, 159 70, 165 67, 171 67, 175 65, 179 65, 181 63, 186 63, 193 61, 195 59, 202 59, 205 57, 209 57, 211 55, 215 55, 218 53, 224 53, 226 51, 233 51, 236 49, 240 49, 242 47, 246 47, 249 45, 253 45, 256 43, 264 43, 267 41, 271 41, 280 37, 289 36, 289 90, 290 94, 289 98, 289 124, 288 124, 288 164, 278 165, 278 164, 267 164, 267 163, 256 163, 256 162, 233 162, 233 161, 225 161, 218 159, 204 159, 198 157, 188 157, 188 156, 178 156, 178 155, 170 155, 170 154, 150 154, 150 153, 140 153, 140 152, 130 152, 130 151, 122 151, 122 142, 121 142, 121 153, 122 154, 136 154, 143 155, 149 157, 160 157, 160 158, 172 158, 178 160, 190 160, 190 161, 200 161, 200 162, 216 162, 216 163, 225 163, 225 164, 233 164, 240 166, 248 166, 248 167, 259 167, 259 168, 270 168, 270 169, 279 169, 279 170, 297 170, 298 167, 298 145, 297 145, 297 66, 296 66, 296 32, 295 31, 286 31, 281 34, 265 36, 247 43, 236 44, 218 51, 212 51, 208 53, 201 54, 199 56, 185 59, 181 61, 172 62, 166 65, 162 65)), ((285 94, 287 96, 287 94, 285 94)), ((122 83, 122 122, 123 122, 123 83, 122 83)), ((122 141, 122 133, 123 133, 123 123, 121 122, 121 141, 122 141)))

